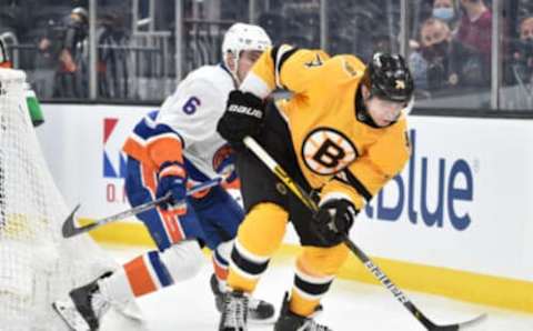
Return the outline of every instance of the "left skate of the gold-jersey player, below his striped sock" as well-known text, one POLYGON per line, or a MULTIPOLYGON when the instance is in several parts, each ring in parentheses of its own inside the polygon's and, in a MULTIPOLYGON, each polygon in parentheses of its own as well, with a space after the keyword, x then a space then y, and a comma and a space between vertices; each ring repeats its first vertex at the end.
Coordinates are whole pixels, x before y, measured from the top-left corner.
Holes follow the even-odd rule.
POLYGON ((222 315, 220 317, 219 331, 247 331, 248 295, 242 292, 228 292, 224 294, 222 315))

